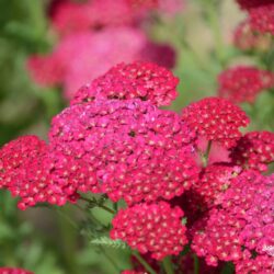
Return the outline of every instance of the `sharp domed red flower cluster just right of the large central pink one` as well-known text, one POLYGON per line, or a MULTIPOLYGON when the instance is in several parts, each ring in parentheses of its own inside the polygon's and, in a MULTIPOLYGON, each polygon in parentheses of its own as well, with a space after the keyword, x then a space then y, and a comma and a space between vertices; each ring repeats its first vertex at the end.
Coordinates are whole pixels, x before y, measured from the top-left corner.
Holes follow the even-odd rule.
POLYGON ((196 130, 198 136, 217 141, 229 148, 241 137, 239 127, 247 126, 246 113, 228 100, 205 98, 183 109, 182 119, 196 130))

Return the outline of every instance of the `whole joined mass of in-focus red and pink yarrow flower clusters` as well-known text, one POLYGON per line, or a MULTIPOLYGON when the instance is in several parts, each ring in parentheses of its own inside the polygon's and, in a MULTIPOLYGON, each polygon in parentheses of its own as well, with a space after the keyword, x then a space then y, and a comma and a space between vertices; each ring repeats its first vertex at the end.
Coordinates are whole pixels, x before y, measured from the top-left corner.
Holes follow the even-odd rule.
POLYGON ((271 273, 263 247, 274 244, 274 178, 260 172, 274 161, 274 134, 242 134, 249 117, 221 98, 181 114, 160 109, 176 98, 178 83, 158 65, 113 67, 53 118, 48 144, 23 136, 1 148, 0 187, 20 197, 21 209, 77 203, 81 193, 124 199, 111 238, 152 261, 191 242, 208 265, 271 273), (227 158, 210 155, 216 145, 227 158))

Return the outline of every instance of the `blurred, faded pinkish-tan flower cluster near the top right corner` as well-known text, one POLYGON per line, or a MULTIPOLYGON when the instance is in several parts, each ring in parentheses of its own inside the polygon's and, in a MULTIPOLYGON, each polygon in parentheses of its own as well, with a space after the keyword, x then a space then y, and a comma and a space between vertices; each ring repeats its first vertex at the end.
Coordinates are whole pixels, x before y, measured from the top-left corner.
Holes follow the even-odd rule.
POLYGON ((254 32, 250 25, 250 20, 241 22, 233 34, 233 44, 241 50, 269 50, 271 47, 271 37, 254 32))

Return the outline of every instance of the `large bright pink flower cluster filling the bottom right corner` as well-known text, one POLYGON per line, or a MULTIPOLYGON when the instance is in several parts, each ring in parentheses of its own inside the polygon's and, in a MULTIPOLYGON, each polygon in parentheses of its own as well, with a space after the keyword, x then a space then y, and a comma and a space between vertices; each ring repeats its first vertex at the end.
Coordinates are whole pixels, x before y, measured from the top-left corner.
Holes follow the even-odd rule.
POLYGON ((240 174, 219 197, 219 206, 199 220, 193 250, 209 265, 217 265, 218 260, 232 261, 237 270, 271 273, 273 256, 265 247, 274 244, 273 203, 273 175, 252 171, 240 174))

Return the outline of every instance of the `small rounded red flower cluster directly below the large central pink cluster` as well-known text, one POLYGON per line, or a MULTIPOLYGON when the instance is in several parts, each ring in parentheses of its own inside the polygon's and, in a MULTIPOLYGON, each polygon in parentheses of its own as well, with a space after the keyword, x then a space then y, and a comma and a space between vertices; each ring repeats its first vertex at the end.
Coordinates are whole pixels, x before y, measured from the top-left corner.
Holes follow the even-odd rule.
POLYGON ((112 220, 112 239, 121 239, 140 253, 150 252, 151 258, 162 260, 178 255, 187 243, 183 212, 171 208, 168 203, 138 204, 121 209, 112 220))

